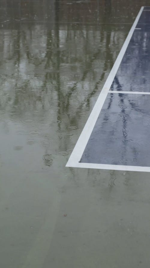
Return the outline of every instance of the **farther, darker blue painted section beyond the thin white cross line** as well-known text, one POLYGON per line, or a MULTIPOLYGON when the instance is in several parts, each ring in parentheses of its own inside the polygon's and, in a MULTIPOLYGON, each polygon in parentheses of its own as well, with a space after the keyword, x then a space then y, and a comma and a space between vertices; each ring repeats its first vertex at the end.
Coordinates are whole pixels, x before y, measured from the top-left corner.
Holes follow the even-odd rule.
POLYGON ((150 92, 149 11, 142 12, 136 28, 141 30, 134 30, 110 90, 150 92))

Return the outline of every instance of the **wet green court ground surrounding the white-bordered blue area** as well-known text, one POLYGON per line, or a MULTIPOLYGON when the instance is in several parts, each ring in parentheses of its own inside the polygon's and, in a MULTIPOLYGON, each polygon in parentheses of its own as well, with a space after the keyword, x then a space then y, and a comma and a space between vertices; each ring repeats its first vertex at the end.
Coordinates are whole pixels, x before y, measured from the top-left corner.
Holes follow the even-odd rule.
POLYGON ((0 1, 1 268, 149 268, 150 174, 65 168, 142 5, 0 1))

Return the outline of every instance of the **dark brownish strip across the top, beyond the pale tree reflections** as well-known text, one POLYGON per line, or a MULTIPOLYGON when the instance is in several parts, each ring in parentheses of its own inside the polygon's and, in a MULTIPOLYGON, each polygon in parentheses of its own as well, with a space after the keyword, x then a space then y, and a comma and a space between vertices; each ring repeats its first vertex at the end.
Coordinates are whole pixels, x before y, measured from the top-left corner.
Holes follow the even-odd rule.
MULTIPOLYGON (((96 1, 62 1, 45 0, 21 1, 1 0, 1 21, 16 22, 53 22, 55 20, 55 3, 59 3, 59 21, 63 23, 132 23, 141 6, 141 2, 96 0, 96 1)), ((144 2, 145 4, 145 2, 144 2)), ((58 20, 57 20, 58 22, 58 20)), ((59 22, 58 22, 59 23, 59 22)))

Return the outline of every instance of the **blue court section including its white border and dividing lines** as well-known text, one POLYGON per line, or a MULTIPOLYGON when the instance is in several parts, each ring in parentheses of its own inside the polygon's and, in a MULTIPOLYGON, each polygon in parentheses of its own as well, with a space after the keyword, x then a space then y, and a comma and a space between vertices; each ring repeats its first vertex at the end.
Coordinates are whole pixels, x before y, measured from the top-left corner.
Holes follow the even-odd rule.
POLYGON ((142 7, 66 166, 150 172, 150 7, 142 7))

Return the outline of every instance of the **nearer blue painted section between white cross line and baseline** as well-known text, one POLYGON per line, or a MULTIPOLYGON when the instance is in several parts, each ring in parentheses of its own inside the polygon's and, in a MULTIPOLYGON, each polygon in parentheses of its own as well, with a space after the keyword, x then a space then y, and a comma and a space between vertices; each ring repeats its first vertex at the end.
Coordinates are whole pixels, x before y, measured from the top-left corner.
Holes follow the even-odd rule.
POLYGON ((109 93, 80 162, 150 166, 150 95, 109 93))

